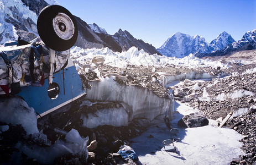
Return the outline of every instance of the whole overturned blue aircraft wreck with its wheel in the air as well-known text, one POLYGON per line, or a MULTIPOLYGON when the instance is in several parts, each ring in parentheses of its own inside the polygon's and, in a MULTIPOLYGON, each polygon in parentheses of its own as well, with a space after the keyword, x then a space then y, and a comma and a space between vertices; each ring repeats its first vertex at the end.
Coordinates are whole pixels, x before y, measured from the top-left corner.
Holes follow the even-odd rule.
POLYGON ((73 15, 49 5, 41 10, 37 28, 40 37, 0 47, 0 96, 22 97, 38 118, 47 119, 69 110, 86 92, 69 58, 78 34, 73 15))

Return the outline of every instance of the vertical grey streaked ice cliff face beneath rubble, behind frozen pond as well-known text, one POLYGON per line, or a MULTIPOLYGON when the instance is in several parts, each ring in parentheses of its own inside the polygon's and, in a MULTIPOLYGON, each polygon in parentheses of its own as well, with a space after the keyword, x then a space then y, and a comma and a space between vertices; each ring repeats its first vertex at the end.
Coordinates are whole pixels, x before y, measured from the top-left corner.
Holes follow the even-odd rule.
POLYGON ((129 121, 135 118, 153 120, 160 114, 168 114, 170 118, 172 117, 171 97, 159 97, 153 91, 140 86, 118 84, 113 76, 101 78, 101 81, 91 81, 89 84, 92 85, 92 89, 86 91, 87 99, 126 103, 130 107, 129 121))

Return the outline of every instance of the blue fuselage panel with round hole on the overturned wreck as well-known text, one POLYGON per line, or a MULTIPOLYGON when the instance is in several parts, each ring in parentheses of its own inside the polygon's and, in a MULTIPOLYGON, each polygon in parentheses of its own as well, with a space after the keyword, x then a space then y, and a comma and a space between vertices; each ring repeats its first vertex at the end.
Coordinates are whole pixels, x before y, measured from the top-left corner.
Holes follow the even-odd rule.
POLYGON ((59 94, 56 98, 50 98, 48 79, 43 86, 24 86, 18 94, 22 96, 29 107, 33 107, 40 116, 60 109, 85 95, 79 74, 74 65, 60 70, 54 74, 53 84, 58 84, 59 94))

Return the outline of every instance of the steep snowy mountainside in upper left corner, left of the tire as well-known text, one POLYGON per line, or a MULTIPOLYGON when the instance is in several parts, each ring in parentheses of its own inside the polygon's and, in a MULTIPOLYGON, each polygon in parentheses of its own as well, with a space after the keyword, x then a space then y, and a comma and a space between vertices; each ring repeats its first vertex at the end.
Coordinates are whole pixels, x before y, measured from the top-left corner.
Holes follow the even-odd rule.
POLYGON ((1 0, 0 8, 0 44, 18 40, 18 36, 24 40, 36 37, 37 15, 22 1, 1 0))

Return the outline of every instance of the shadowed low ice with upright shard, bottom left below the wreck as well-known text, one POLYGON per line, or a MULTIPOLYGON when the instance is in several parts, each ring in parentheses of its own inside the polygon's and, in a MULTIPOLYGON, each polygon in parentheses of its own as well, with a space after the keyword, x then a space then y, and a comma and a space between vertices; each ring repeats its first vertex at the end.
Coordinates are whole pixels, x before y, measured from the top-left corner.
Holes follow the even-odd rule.
MULTIPOLYGON (((77 130, 72 129, 67 133, 65 137, 66 141, 58 140, 54 145, 50 146, 39 146, 28 144, 19 141, 15 148, 19 149, 19 153, 25 153, 28 158, 35 158, 36 161, 42 164, 53 164, 56 157, 60 157, 63 155, 67 155, 72 153, 73 155, 83 157, 87 160, 88 158, 88 150, 87 150, 87 142, 88 136, 86 138, 82 138, 77 130)), ((19 154, 18 153, 18 154, 19 154)), ((21 156, 15 155, 9 163, 18 163, 15 161, 18 158, 22 158, 21 156)))

